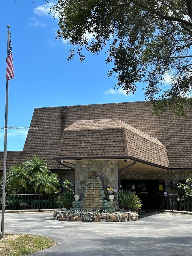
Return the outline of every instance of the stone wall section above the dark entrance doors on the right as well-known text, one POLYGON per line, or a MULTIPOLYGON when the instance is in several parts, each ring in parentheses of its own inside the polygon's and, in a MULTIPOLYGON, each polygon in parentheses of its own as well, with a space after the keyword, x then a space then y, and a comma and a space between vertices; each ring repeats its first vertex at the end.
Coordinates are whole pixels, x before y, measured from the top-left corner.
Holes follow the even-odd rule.
POLYGON ((161 170, 161 171, 121 171, 121 179, 163 179, 165 180, 165 191, 175 194, 171 190, 170 182, 178 184, 179 180, 186 180, 192 176, 192 171, 161 170))

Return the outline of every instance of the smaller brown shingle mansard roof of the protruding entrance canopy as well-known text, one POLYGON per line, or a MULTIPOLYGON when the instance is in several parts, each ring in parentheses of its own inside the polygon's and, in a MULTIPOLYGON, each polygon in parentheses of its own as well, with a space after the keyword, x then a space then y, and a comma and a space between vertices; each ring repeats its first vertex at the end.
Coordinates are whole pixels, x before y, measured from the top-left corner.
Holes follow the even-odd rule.
POLYGON ((119 119, 74 122, 64 129, 58 151, 64 159, 128 155, 169 167, 166 147, 158 139, 119 119))

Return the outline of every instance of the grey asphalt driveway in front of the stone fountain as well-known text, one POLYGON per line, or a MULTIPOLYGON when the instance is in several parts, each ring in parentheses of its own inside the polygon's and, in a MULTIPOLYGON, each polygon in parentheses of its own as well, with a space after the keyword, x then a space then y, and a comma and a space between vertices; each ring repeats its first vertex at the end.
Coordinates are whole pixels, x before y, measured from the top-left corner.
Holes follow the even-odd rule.
POLYGON ((192 256, 192 215, 139 214, 132 222, 67 222, 53 212, 5 213, 4 233, 52 237, 58 245, 32 256, 192 256))

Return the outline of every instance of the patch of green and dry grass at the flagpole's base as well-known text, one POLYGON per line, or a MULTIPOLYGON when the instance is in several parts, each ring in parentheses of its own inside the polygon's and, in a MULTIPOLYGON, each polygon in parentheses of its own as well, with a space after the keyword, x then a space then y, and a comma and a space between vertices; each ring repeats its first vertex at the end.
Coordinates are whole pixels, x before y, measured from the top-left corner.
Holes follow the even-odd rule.
POLYGON ((46 236, 4 234, 4 238, 0 240, 0 255, 25 256, 54 245, 56 245, 56 242, 46 236))

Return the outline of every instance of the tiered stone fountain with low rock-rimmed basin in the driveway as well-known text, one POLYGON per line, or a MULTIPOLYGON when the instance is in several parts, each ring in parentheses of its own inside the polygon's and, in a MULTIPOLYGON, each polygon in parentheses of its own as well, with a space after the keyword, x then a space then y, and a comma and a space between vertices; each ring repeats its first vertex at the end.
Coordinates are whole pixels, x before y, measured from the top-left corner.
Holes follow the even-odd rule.
POLYGON ((117 222, 138 220, 137 212, 119 212, 116 201, 107 201, 101 178, 87 179, 81 200, 75 195, 73 207, 54 211, 53 219, 60 221, 117 222))

